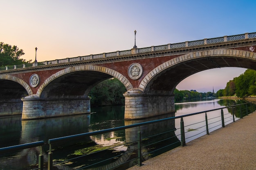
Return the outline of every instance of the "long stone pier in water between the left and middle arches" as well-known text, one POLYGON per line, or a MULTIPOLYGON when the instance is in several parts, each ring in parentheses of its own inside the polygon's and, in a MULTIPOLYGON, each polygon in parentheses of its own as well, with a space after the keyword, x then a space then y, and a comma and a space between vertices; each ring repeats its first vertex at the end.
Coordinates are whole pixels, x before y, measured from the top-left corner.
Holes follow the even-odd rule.
POLYGON ((41 119, 90 113, 90 98, 39 98, 30 95, 23 102, 21 119, 41 119))

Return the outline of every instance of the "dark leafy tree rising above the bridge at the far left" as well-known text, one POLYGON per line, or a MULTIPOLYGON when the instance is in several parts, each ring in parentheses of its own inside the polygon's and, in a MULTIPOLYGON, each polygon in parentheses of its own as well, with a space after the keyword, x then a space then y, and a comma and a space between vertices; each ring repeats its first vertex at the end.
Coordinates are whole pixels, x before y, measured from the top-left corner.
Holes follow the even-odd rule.
POLYGON ((11 46, 0 42, 0 66, 18 65, 31 62, 31 60, 26 62, 26 60, 20 58, 20 56, 24 54, 23 50, 19 49, 17 46, 11 46))

